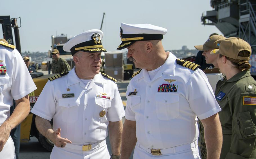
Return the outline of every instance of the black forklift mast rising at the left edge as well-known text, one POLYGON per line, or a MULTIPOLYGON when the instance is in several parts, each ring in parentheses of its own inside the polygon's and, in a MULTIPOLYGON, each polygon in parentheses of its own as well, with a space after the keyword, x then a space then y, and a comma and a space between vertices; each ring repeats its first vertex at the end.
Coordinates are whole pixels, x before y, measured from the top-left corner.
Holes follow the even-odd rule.
POLYGON ((21 54, 21 43, 20 43, 20 37, 19 37, 19 27, 21 26, 17 25, 17 18, 11 19, 10 16, 0 16, 0 23, 2 24, 3 38, 11 45, 14 45, 12 27, 14 28, 16 49, 21 54))

